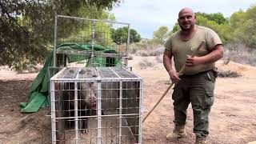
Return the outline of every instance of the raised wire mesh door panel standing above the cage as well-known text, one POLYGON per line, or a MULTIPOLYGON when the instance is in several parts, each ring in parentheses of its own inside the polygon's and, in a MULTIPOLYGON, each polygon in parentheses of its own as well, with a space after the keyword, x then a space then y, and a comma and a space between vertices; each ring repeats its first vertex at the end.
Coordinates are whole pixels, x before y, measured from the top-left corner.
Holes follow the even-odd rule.
POLYGON ((54 65, 127 66, 129 26, 123 22, 56 15, 54 65), (113 31, 122 27, 127 27, 127 33, 114 38, 113 31))

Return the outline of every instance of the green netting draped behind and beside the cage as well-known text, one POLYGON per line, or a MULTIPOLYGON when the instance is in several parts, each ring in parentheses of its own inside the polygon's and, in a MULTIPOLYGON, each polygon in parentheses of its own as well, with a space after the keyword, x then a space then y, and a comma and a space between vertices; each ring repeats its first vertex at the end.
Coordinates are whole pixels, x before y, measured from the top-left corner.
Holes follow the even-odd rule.
MULTIPOLYGON (((57 46, 58 50, 92 50, 92 45, 90 44, 78 44, 78 43, 62 43, 57 46)), ((117 58, 114 58, 114 66, 122 66, 121 54, 110 47, 105 47, 101 45, 94 46, 94 50, 101 53, 119 54, 117 58)), ((108 66, 108 58, 105 57, 94 57, 89 58, 88 56, 81 55, 67 55, 68 62, 78 62, 87 59, 88 62, 86 66, 108 66), (95 65, 97 64, 97 65, 95 65)), ((112 58, 113 60, 113 58, 112 58)), ((49 96, 49 82, 50 73, 48 73, 48 68, 53 66, 53 53, 49 55, 44 64, 42 70, 40 70, 37 77, 30 85, 28 93, 28 102, 21 102, 21 112, 32 113, 37 112, 40 107, 50 106, 50 96, 49 96)), ((113 65, 112 65, 113 66, 113 65)))

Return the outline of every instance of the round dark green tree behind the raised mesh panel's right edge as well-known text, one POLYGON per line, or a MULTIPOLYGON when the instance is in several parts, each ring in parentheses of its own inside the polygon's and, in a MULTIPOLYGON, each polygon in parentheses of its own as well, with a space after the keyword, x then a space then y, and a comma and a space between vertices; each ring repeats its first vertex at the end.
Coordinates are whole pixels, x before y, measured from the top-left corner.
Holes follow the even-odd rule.
MULTIPOLYGON (((111 38, 113 41, 117 44, 122 44, 127 42, 128 38, 128 27, 124 26, 121 28, 118 28, 116 30, 112 29, 111 38)), ((130 43, 134 42, 140 42, 141 35, 138 34, 138 32, 134 29, 130 29, 130 43)))

